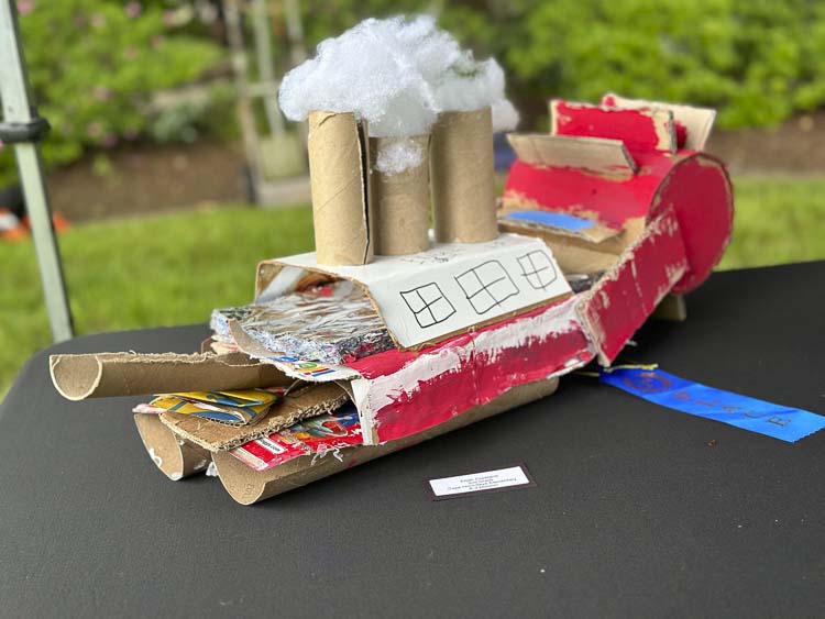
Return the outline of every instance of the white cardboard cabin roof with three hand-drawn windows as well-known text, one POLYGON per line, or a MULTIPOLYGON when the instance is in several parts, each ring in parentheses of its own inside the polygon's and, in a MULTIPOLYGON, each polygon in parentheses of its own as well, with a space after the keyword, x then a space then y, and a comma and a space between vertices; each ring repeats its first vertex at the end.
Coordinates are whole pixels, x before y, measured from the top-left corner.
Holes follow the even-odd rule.
POLYGON ((544 243, 503 234, 486 243, 437 243, 409 256, 376 256, 359 267, 319 266, 314 253, 266 261, 258 267, 257 302, 295 291, 310 274, 362 286, 404 349, 439 342, 571 294, 544 243))

